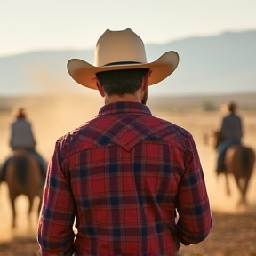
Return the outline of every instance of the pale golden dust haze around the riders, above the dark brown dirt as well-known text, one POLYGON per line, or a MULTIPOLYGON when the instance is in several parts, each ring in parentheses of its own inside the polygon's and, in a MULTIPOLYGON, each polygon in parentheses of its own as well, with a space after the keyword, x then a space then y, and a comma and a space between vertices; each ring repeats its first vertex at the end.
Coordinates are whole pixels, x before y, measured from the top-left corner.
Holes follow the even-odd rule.
MULTIPOLYGON (((10 99, 13 108, 24 107, 28 111, 28 119, 33 125, 36 136, 37 150, 49 160, 52 156, 56 140, 65 133, 72 131, 77 126, 94 118, 103 105, 103 99, 96 92, 91 95, 51 95, 35 97, 19 97, 10 99)), ((150 108, 150 102, 148 103, 150 108)), ((202 161, 204 178, 207 186, 212 211, 218 212, 256 212, 256 176, 255 168, 248 190, 247 208, 237 207, 239 199, 235 180, 230 177, 231 195, 227 196, 224 177, 217 179, 214 169, 216 152, 212 145, 205 145, 203 135, 220 124, 221 113, 219 111, 204 112, 203 110, 188 111, 159 111, 151 108, 154 116, 169 120, 188 130, 196 141, 196 147, 202 161)), ((256 151, 256 120, 255 112, 243 112, 245 136, 244 143, 256 151)), ((0 116, 0 162, 2 163, 11 151, 8 147, 9 127, 13 116, 11 113, 3 113, 0 116)), ((17 200, 18 228, 11 230, 11 207, 8 201, 7 188, 0 186, 0 241, 12 239, 13 236, 34 236, 36 234, 36 205, 32 217, 32 225, 28 225, 26 211, 28 209, 27 198, 20 196, 17 200), (30 228, 28 228, 30 227, 30 228), (32 231, 31 231, 32 230, 32 231), (32 234, 32 235, 31 235, 32 234)))

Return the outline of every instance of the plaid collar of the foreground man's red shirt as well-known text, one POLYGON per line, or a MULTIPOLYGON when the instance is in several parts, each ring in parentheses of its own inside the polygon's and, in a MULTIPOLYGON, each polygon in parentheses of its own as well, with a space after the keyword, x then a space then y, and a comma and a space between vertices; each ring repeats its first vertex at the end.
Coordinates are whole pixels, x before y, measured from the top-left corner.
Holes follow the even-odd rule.
POLYGON ((149 108, 140 102, 119 101, 107 104, 100 108, 99 115, 121 114, 121 113, 137 113, 152 116, 149 108))

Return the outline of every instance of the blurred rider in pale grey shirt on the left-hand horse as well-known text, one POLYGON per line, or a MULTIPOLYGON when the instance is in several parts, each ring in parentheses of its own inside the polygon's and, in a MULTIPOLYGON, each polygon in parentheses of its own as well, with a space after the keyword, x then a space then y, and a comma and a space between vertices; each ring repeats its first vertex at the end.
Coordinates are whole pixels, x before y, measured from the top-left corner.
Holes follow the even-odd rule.
MULTIPOLYGON (((36 140, 32 132, 31 124, 26 118, 26 112, 24 108, 20 108, 18 110, 18 113, 14 116, 16 116, 17 118, 11 126, 10 147, 14 152, 19 149, 25 149, 28 152, 32 153, 34 156, 36 156, 36 159, 40 165, 42 176, 45 179, 47 166, 43 157, 40 156, 38 152, 36 152, 36 140)), ((4 181, 6 166, 11 160, 12 156, 8 157, 7 160, 4 162, 3 166, 1 167, 0 182, 4 181)))

